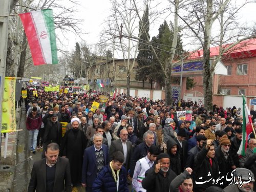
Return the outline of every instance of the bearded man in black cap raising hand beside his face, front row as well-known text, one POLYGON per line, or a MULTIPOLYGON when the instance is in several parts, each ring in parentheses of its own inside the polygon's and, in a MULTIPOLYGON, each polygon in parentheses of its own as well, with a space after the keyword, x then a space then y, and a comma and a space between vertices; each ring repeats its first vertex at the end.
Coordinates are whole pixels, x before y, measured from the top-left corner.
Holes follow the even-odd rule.
POLYGON ((147 192, 169 192, 170 182, 177 176, 172 169, 169 168, 170 159, 166 153, 161 153, 157 157, 157 164, 145 173, 142 180, 142 187, 147 192))

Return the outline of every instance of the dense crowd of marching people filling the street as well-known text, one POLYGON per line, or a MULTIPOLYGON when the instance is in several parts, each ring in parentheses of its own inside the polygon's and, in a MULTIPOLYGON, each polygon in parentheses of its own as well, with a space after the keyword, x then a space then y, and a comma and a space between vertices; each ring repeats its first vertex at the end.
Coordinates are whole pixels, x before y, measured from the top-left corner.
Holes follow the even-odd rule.
MULTIPOLYGON (((253 133, 245 156, 237 154, 240 108, 214 105, 207 111, 192 101, 167 105, 125 94, 105 94, 103 103, 103 94, 28 94, 29 147, 34 154, 42 151, 29 191, 71 191, 79 185, 87 192, 129 191, 128 185, 137 192, 255 190, 253 133), (94 101, 100 103, 96 110, 94 101), (179 120, 178 111, 191 111, 192 118, 179 120)), ((250 112, 254 120, 256 112, 250 112)))

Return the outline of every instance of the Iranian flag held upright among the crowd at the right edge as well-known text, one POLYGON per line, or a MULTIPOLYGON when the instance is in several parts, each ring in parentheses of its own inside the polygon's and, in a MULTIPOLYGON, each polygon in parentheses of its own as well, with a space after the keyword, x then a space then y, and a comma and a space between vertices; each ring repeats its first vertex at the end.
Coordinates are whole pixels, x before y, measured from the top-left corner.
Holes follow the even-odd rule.
POLYGON ((253 126, 252 126, 250 111, 248 109, 245 98, 243 96, 243 136, 242 136, 242 142, 238 150, 239 155, 245 156, 247 139, 248 139, 248 135, 252 132, 252 127, 253 126))

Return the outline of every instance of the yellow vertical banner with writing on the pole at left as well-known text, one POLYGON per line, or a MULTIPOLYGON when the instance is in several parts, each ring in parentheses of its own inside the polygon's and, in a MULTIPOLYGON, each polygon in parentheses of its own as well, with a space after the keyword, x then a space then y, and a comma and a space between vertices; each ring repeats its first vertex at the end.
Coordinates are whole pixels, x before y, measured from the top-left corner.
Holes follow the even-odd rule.
POLYGON ((16 131, 15 77, 5 77, 2 100, 2 133, 16 131))

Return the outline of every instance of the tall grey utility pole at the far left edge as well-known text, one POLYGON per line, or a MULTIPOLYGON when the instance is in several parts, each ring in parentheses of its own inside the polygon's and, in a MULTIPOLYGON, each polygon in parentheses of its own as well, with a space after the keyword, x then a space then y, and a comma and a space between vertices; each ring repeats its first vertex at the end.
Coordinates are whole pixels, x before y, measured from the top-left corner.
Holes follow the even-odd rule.
MULTIPOLYGON (((6 68, 6 54, 8 42, 8 15, 10 15, 10 2, 9 0, 0 1, 0 133, 2 132, 2 100, 5 81, 5 68, 6 68)), ((0 158, 1 158, 1 143, 0 137, 0 158)))

